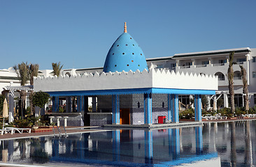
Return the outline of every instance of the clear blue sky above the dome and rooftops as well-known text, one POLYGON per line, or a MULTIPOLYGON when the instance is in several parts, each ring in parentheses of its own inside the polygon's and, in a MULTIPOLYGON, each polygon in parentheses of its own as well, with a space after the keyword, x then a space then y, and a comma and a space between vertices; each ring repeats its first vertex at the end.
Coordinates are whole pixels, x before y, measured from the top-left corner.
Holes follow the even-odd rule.
POLYGON ((255 0, 0 0, 0 69, 102 67, 124 22, 146 58, 256 48, 255 0))

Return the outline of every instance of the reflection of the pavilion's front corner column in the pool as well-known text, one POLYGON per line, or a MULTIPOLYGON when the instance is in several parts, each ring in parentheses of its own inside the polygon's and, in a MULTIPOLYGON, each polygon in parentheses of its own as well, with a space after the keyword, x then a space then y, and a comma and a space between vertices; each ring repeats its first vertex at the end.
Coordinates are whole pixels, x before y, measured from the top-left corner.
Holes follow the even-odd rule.
POLYGON ((152 131, 145 130, 144 138, 145 138, 145 164, 152 164, 153 163, 152 131))

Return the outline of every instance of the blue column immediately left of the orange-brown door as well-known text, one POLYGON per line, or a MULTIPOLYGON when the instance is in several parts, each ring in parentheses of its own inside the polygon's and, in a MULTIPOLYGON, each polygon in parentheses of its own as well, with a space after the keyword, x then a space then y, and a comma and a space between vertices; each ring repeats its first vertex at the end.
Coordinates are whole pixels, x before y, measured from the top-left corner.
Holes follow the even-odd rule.
POLYGON ((120 124, 119 95, 112 95, 112 124, 120 124))

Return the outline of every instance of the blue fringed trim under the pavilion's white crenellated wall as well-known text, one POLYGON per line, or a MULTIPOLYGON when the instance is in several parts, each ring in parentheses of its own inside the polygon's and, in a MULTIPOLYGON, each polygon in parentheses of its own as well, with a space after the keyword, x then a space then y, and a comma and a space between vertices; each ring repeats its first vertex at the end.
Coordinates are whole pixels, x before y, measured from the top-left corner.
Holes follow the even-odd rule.
POLYGON ((49 91, 50 96, 92 96, 92 95, 131 95, 131 94, 178 94, 215 95, 215 90, 173 89, 173 88, 131 88, 109 90, 49 91))

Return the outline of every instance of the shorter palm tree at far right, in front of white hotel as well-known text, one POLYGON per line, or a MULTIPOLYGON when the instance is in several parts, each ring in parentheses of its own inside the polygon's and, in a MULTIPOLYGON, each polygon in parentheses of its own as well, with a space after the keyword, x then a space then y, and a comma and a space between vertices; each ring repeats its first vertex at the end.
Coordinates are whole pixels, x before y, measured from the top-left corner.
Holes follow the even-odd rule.
POLYGON ((243 67, 243 65, 239 65, 241 68, 241 76, 243 79, 243 98, 244 98, 244 106, 246 107, 246 111, 249 110, 249 97, 248 97, 248 83, 246 79, 246 69, 243 67))

